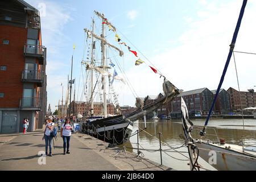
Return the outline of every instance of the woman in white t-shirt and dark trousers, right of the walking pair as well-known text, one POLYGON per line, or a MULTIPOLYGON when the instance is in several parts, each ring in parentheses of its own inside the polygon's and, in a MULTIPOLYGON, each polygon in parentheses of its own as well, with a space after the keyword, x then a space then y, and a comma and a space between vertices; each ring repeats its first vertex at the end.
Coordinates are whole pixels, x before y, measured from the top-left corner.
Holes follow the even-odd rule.
POLYGON ((70 123, 70 119, 67 118, 60 130, 60 137, 63 138, 63 150, 64 150, 63 155, 66 154, 66 147, 67 147, 67 154, 70 154, 69 141, 70 141, 72 130, 73 130, 73 126, 70 123))

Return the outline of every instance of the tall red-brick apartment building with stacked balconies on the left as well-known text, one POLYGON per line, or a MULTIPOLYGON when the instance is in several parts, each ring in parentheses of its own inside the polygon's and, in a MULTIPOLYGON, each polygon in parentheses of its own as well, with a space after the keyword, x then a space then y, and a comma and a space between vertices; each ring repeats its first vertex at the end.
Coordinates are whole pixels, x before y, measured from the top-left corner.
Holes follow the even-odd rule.
POLYGON ((22 0, 0 1, 0 133, 42 128, 46 115, 46 48, 40 15, 22 0))

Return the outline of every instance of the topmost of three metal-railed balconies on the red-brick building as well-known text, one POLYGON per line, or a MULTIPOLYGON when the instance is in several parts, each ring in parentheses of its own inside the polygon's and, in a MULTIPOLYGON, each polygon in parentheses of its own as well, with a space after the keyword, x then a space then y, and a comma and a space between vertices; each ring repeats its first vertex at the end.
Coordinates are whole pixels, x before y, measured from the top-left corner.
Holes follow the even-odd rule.
POLYGON ((46 60, 46 47, 25 44, 24 56, 37 57, 39 64, 43 65, 46 60))

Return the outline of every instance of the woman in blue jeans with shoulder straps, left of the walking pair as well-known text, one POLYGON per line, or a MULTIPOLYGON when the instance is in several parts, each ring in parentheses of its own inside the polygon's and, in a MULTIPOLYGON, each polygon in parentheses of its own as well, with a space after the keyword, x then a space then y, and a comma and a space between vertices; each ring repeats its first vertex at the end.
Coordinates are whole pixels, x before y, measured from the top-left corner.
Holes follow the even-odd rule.
POLYGON ((46 123, 46 130, 44 130, 43 139, 46 141, 46 155, 48 155, 48 146, 49 146, 49 156, 52 156, 52 137, 51 131, 53 129, 52 116, 48 117, 48 122, 46 123))

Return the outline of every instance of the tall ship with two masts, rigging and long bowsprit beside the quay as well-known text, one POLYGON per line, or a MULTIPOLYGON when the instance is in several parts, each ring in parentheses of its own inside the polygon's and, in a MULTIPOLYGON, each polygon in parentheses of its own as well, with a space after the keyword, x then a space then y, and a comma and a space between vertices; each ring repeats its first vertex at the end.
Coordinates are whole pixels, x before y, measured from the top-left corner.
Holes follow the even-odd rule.
MULTIPOLYGON (((88 46, 87 57, 82 60, 86 70, 86 106, 84 112, 84 123, 82 123, 82 132, 93 135, 101 140, 105 140, 109 143, 121 144, 130 139, 133 131, 134 121, 145 118, 146 114, 158 109, 158 107, 167 104, 174 100, 182 90, 179 90, 167 80, 165 76, 159 73, 158 69, 152 65, 148 65, 146 61, 138 59, 138 53, 133 51, 127 43, 123 42, 117 34, 117 28, 105 18, 105 15, 94 11, 96 19, 100 22, 99 26, 96 26, 96 19, 92 19, 91 28, 84 28, 86 35, 86 45, 88 46), (99 35, 96 33, 96 27, 99 35), (106 33, 107 32, 107 33, 106 33), (114 40, 114 44, 109 42, 114 40), (144 105, 144 101, 135 97, 135 105, 137 110, 129 114, 122 114, 118 102, 118 94, 115 92, 115 84, 127 84, 133 93, 134 89, 131 86, 129 78, 125 75, 124 69, 120 65, 118 58, 123 58, 125 53, 122 48, 127 49, 127 52, 131 53, 137 59, 135 66, 140 64, 147 65, 151 71, 160 75, 160 79, 163 79, 163 91, 164 97, 154 103, 144 105), (122 76, 119 76, 119 72, 122 76), (97 106, 96 105, 96 98, 97 106), (109 107, 110 103, 114 106, 112 113, 109 107), (100 111, 99 111, 100 110, 100 111)), ((122 88, 122 87, 121 87, 122 88)), ((125 92, 126 90, 119 89, 119 92, 125 92)), ((146 125, 145 125, 146 128, 146 125)))

